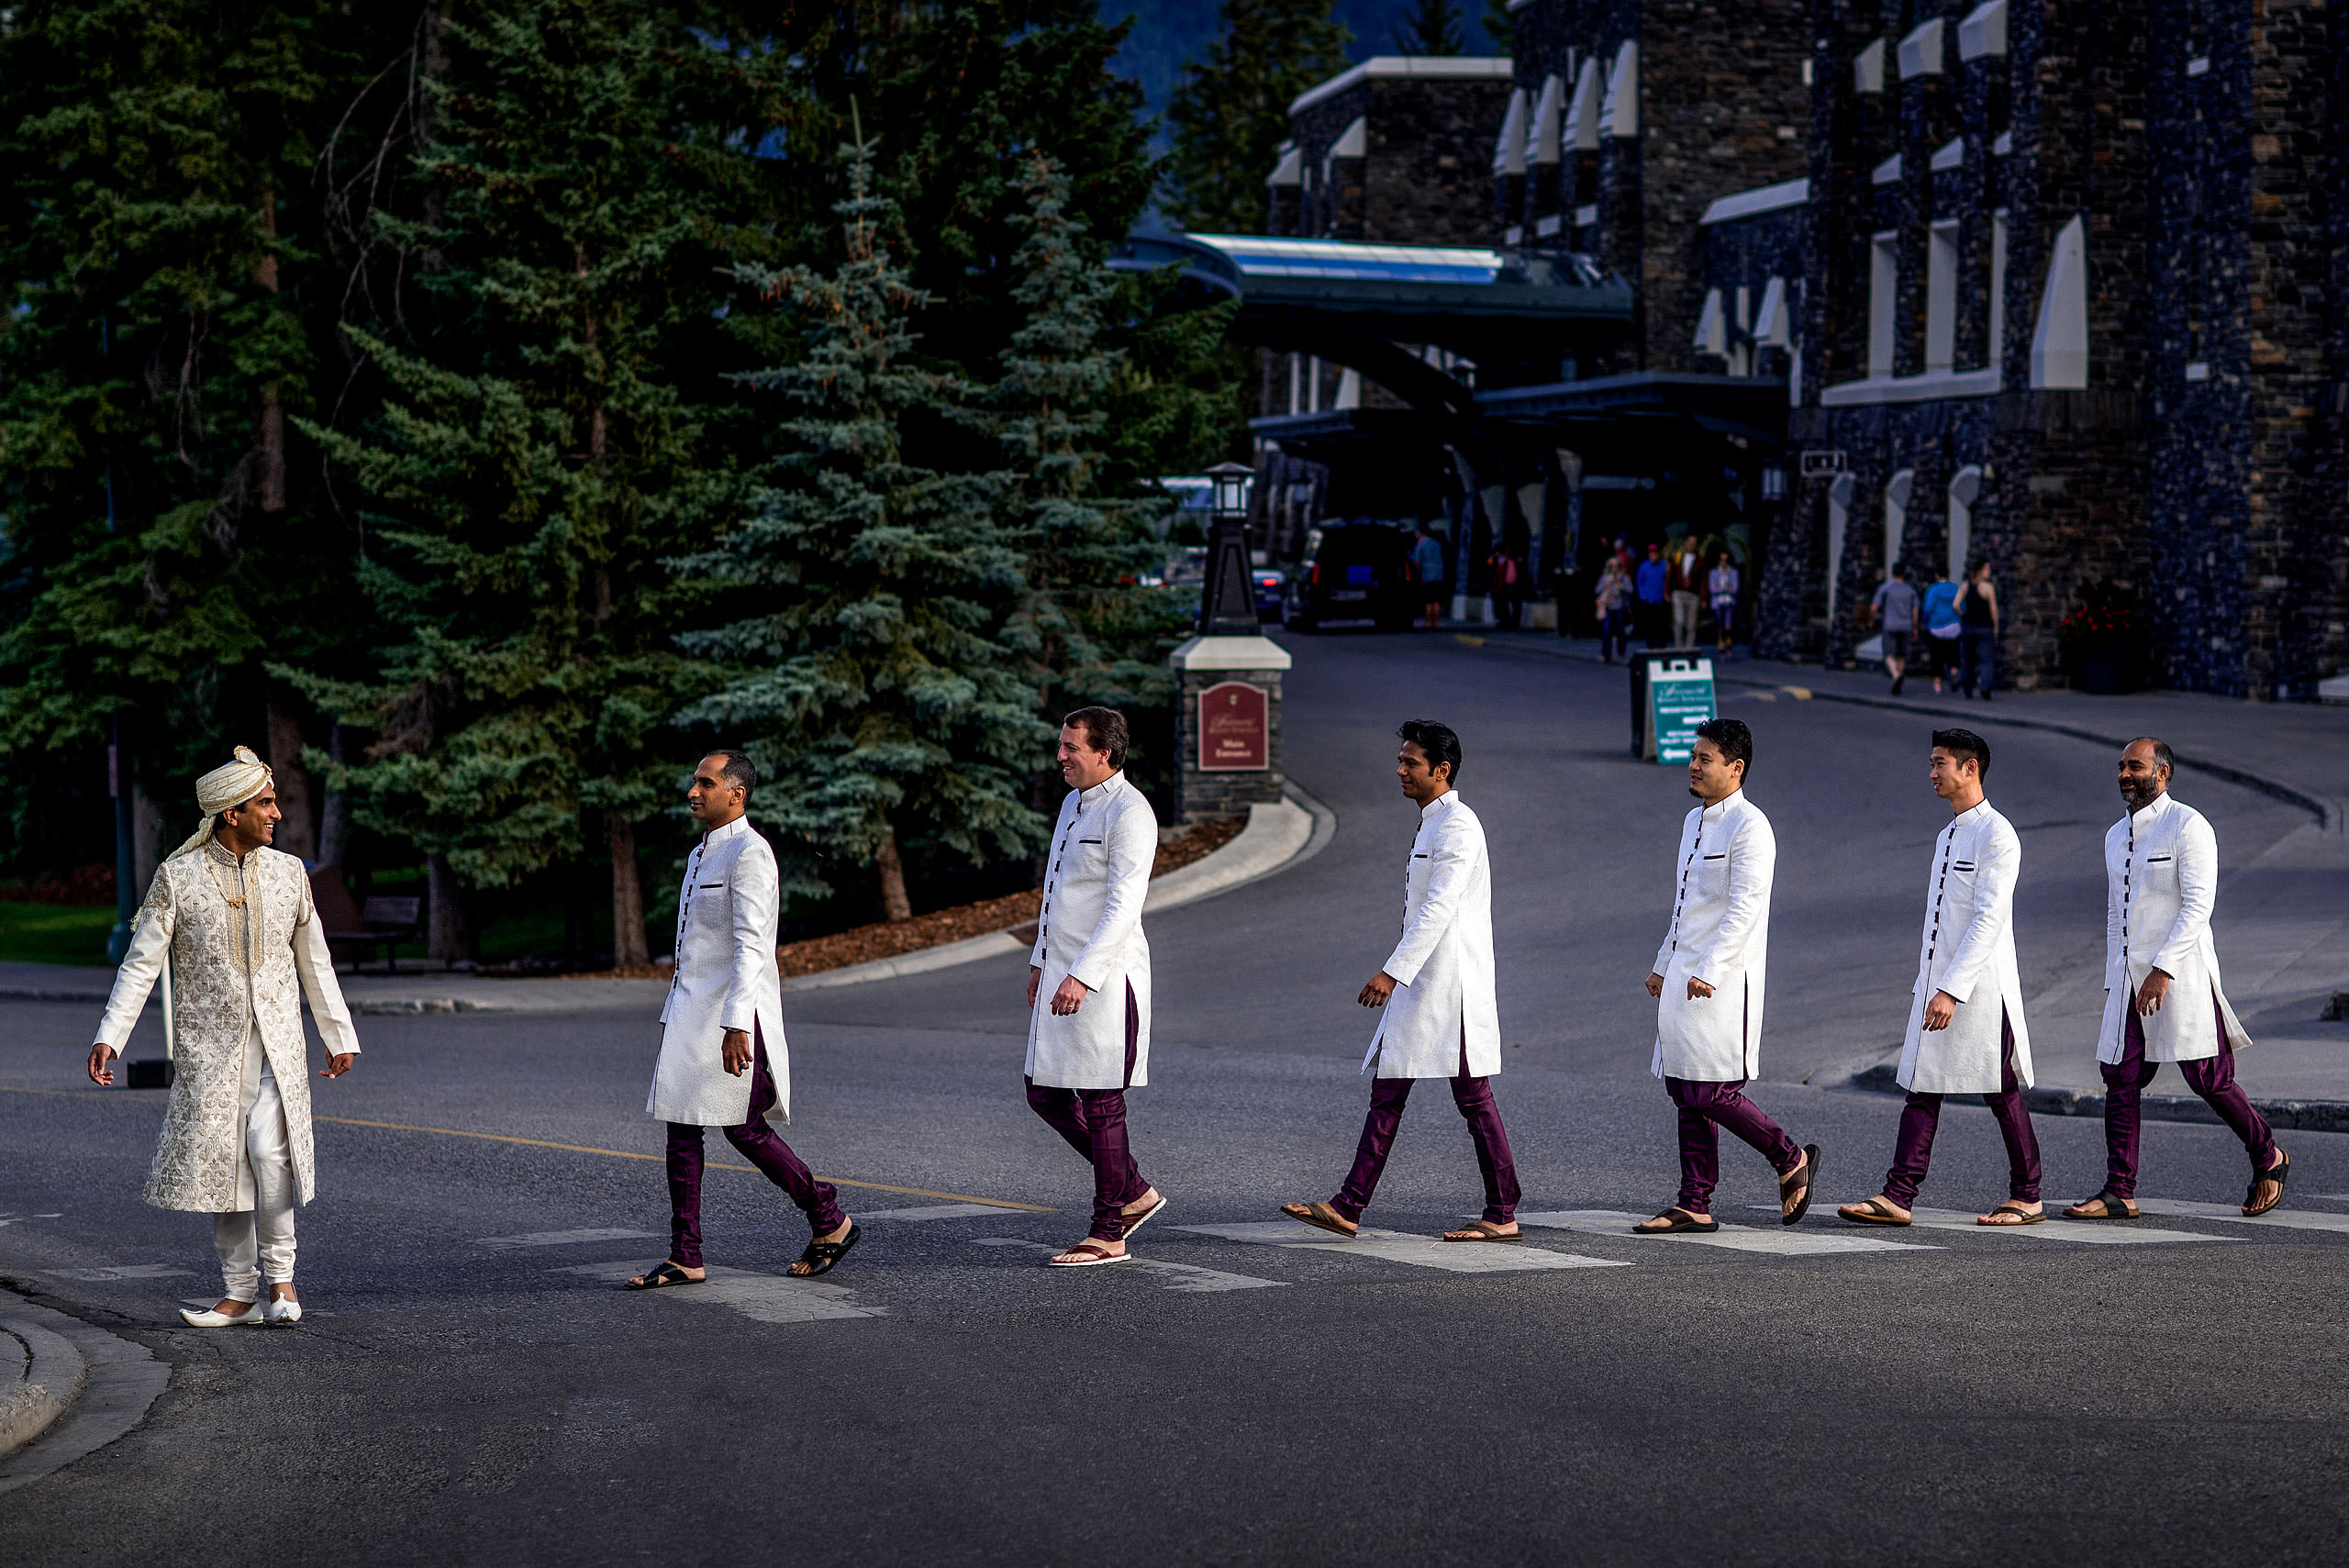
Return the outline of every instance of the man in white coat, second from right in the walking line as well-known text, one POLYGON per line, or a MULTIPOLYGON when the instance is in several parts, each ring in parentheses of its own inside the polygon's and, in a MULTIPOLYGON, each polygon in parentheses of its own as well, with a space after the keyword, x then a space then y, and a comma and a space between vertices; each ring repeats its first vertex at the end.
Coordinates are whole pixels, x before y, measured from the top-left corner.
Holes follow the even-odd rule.
POLYGON ((2006 1202, 1978 1225, 2037 1225, 2039 1136, 2022 1089, 2032 1082, 2032 1035, 2015 965, 2015 876, 2022 838, 1983 796, 1990 742, 1973 730, 1933 730, 1929 779, 1950 803, 1933 843, 1917 941, 1917 988, 1898 1082, 1910 1091, 1884 1190, 1837 1209, 1856 1225, 1907 1225, 1933 1160, 1945 1094, 1980 1094, 2006 1138, 2006 1202))

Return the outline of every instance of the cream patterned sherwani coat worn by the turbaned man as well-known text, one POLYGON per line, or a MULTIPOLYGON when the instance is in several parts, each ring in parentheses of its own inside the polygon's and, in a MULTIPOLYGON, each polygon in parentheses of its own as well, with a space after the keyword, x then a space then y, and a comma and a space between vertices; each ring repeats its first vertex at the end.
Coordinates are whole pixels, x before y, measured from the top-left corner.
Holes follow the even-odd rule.
POLYGON ((122 1049, 162 974, 164 953, 171 955, 176 1073, 143 1195, 157 1209, 228 1214, 240 1199, 251 1209, 251 1197, 240 1192, 240 1174, 244 1042, 256 1021, 287 1115, 294 1192, 298 1202, 310 1202, 317 1174, 310 1143, 310 1052, 301 1033, 303 993, 310 995, 310 1016, 317 1019, 327 1054, 359 1049, 303 864, 277 850, 254 850, 244 859, 242 885, 244 892, 237 894, 237 861, 216 843, 157 866, 139 908, 132 951, 122 958, 99 1023, 99 1040, 122 1049), (244 897, 242 913, 254 915, 249 937, 228 897, 244 897))

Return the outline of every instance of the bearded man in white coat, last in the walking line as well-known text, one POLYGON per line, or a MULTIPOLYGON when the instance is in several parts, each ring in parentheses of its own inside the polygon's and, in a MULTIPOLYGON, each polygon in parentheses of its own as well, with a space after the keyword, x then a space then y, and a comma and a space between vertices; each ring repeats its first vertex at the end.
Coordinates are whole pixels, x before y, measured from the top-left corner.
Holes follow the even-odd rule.
POLYGON ((2243 1214, 2283 1202, 2290 1157, 2267 1117, 2234 1082, 2250 1045, 2227 1005, 2210 941, 2217 906, 2217 833, 2170 796, 2178 758, 2145 735, 2121 751, 2128 815, 2105 833, 2105 1021, 2095 1061, 2105 1075, 2105 1190, 2065 1209, 2077 1221, 2138 1218, 2138 1122, 2145 1084, 2175 1061, 2250 1155, 2243 1214))

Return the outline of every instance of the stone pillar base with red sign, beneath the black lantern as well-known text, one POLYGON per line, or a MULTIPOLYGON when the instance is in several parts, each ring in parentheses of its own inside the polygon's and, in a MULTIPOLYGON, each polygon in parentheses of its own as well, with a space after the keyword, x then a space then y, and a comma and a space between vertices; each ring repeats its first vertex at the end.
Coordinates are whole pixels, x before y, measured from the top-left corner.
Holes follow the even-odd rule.
POLYGON ((1167 655, 1167 664, 1174 667, 1179 751, 1174 822, 1245 817, 1259 800, 1280 800, 1280 676, 1290 667, 1287 648, 1268 636, 1193 636, 1167 655), (1226 685, 1238 690, 1221 690, 1226 685))

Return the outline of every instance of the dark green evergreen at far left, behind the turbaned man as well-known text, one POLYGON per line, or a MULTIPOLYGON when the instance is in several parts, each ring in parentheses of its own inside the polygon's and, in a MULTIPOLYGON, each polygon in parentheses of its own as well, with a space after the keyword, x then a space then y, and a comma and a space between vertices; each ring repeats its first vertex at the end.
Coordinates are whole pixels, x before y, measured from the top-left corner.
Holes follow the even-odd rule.
POLYGON ((402 31, 331 0, 47 0, 0 21, 0 793, 16 854, 106 854, 87 800, 103 803, 117 723, 124 779, 157 800, 235 742, 270 746, 263 657, 364 620, 355 542, 287 415, 343 376, 317 331, 336 279, 310 164, 402 31), (59 763, 75 819, 49 815, 68 798, 59 763))

